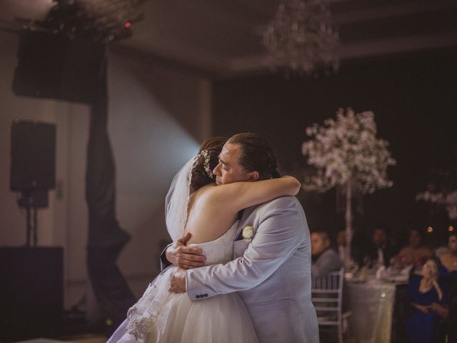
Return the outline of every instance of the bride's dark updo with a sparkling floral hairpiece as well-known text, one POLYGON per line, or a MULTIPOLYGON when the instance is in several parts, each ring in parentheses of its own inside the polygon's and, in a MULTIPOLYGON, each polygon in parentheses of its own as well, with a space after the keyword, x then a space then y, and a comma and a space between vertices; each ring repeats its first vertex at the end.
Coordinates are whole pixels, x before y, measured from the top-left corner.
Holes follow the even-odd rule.
POLYGON ((201 144, 191 171, 191 187, 194 190, 214 182, 213 169, 219 163, 219 154, 226 141, 224 137, 211 137, 201 144))

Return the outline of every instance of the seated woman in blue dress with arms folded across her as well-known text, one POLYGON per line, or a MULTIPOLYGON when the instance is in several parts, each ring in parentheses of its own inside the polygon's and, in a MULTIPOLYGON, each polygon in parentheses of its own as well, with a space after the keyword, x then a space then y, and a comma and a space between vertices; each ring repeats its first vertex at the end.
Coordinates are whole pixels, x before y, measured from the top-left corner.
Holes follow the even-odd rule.
POLYGON ((422 277, 415 276, 408 284, 407 298, 413 314, 404 322, 411 343, 441 342, 441 322, 448 317, 449 309, 447 289, 438 281, 438 266, 438 259, 427 259, 422 277))

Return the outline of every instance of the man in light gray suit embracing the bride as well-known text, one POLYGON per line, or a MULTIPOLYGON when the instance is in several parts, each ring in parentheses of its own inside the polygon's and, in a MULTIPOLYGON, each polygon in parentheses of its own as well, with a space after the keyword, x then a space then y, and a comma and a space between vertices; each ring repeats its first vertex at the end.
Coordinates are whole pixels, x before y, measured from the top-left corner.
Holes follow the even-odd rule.
MULTIPOLYGON (((214 169, 216 184, 237 182, 251 172, 258 172, 256 179, 278 177, 271 147, 256 134, 232 136, 214 169)), ((309 230, 295 197, 244 209, 233 244, 234 260, 227 264, 193 269, 204 257, 184 245, 187 239, 166 249, 169 262, 189 268, 171 279, 171 291, 187 292, 192 300, 238 292, 260 342, 318 342, 309 230)))

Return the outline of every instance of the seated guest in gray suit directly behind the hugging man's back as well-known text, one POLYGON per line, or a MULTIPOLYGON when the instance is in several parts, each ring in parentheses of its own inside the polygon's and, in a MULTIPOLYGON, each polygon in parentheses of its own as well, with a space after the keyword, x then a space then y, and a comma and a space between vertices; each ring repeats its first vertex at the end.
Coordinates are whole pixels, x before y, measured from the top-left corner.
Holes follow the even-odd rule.
POLYGON ((329 272, 335 272, 341 268, 338 254, 330 247, 330 239, 326 232, 311 233, 311 276, 323 277, 329 272))

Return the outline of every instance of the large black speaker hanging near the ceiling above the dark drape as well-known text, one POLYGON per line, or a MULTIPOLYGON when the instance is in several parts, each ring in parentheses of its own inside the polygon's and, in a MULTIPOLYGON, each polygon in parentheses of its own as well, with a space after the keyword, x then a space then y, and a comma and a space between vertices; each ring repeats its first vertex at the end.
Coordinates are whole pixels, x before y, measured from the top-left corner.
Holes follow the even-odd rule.
POLYGON ((91 104, 98 94, 106 45, 24 29, 14 71, 16 95, 91 104))

